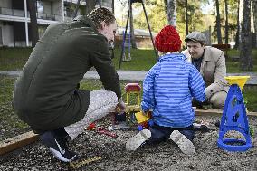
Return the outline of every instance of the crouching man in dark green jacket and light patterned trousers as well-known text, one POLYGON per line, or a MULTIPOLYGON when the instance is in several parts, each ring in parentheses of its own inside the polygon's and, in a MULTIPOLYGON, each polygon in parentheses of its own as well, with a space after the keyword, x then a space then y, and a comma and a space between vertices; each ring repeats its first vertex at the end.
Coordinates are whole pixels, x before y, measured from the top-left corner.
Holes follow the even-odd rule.
POLYGON ((119 76, 109 52, 117 29, 106 8, 79 16, 71 24, 50 25, 14 85, 14 109, 54 157, 70 162, 76 154, 65 144, 90 123, 125 109, 119 76), (84 74, 94 67, 105 90, 80 90, 84 74))

